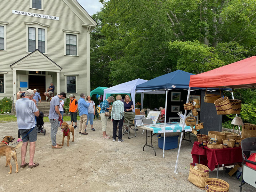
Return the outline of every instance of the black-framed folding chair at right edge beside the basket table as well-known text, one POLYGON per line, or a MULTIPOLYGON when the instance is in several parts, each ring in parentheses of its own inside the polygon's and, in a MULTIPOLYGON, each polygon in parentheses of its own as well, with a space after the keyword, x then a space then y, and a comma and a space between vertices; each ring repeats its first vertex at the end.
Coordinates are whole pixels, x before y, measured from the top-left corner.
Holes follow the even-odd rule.
POLYGON ((250 156, 251 151, 256 151, 256 137, 248 137, 241 141, 242 156, 243 156, 243 168, 242 168, 242 179, 240 185, 240 192, 242 186, 248 183, 256 188, 256 170, 244 164, 245 162, 256 165, 256 162, 250 161, 247 158, 250 156), (244 180, 244 183, 243 183, 244 180))

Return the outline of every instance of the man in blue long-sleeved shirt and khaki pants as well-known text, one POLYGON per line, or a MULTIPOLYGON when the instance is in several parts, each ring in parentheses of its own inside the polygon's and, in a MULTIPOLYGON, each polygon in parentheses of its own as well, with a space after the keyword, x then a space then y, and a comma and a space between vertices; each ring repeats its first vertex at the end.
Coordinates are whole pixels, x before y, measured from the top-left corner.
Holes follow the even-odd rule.
POLYGON ((85 94, 81 93, 80 99, 78 100, 78 111, 80 116, 79 133, 81 133, 81 135, 88 135, 88 133, 85 132, 84 129, 87 122, 88 107, 90 103, 86 103, 84 99, 85 99, 85 94))

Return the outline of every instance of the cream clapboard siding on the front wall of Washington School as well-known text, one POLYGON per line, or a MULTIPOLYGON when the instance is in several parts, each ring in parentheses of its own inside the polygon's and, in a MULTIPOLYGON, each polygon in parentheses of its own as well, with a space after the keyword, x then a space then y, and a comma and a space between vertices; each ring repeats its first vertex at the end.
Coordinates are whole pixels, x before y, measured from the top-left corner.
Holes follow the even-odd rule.
MULTIPOLYGON (((66 90, 65 76, 63 74, 79 74, 77 76, 77 95, 81 92, 88 93, 87 90, 87 28, 82 27, 82 21, 76 13, 74 13, 65 2, 71 0, 44 0, 44 11, 30 9, 29 0, 1 0, 0 1, 0 21, 8 22, 6 26, 6 49, 7 51, 0 51, 1 63, 0 71, 7 71, 5 74, 5 94, 0 94, 0 98, 12 97, 12 69, 9 67, 16 61, 27 56, 27 25, 24 22, 40 22, 44 25, 49 25, 47 28, 47 57, 59 65, 62 70, 60 71, 60 91, 66 90), (50 20, 45 18, 37 18, 26 15, 13 14, 12 10, 25 11, 32 13, 39 13, 44 15, 51 15, 59 17, 60 20, 50 20), (79 31, 78 36, 78 55, 79 56, 66 56, 65 51, 65 36, 63 30, 79 31)), ((74 8, 74 7, 73 7, 74 8)), ((90 21, 88 20, 88 23, 90 21)), ((1 24, 0 24, 1 25, 1 24)), ((29 25, 28 25, 29 26, 29 25)), ((37 38, 36 38, 37 39, 37 38)), ((19 64, 23 68, 35 68, 44 71, 44 68, 53 69, 54 66, 49 64, 45 58, 39 54, 33 55, 19 64)), ((55 68, 56 69, 56 68, 55 68)), ((16 89, 18 91, 18 74, 16 73, 16 89)), ((56 72, 53 74, 53 83, 57 84, 56 72)), ((57 91, 57 90, 56 90, 57 91)))

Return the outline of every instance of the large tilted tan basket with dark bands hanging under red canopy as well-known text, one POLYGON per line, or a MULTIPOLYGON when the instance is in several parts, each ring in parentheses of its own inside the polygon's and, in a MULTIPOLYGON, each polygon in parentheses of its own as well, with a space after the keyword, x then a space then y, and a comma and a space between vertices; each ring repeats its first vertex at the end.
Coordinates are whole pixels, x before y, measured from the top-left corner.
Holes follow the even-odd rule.
POLYGON ((228 97, 221 97, 214 101, 214 104, 217 110, 217 115, 228 115, 234 112, 228 97))

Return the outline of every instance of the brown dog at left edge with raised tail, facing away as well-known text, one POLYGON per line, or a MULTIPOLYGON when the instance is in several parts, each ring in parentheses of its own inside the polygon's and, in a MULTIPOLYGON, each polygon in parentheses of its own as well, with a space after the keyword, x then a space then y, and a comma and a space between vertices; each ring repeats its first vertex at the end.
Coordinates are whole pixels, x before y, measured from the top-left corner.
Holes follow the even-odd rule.
POLYGON ((15 173, 19 172, 18 162, 17 162, 17 154, 15 149, 19 148, 22 145, 22 142, 20 141, 18 145, 15 147, 8 146, 8 143, 12 143, 14 138, 12 136, 5 136, 2 142, 0 143, 0 157, 6 156, 6 164, 5 167, 9 165, 10 172, 8 174, 12 173, 12 165, 11 165, 11 158, 15 161, 16 164, 16 171, 15 173))

